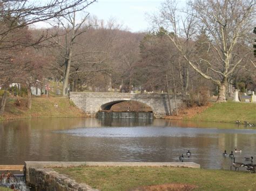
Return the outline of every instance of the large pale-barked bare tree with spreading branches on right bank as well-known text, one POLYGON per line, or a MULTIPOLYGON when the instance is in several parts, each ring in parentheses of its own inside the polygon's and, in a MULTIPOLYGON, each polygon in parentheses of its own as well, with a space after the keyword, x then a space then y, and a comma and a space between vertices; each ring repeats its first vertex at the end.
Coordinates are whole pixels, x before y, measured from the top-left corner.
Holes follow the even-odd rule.
POLYGON ((255 1, 197 0, 190 2, 190 9, 187 9, 190 11, 183 14, 180 14, 177 5, 178 1, 166 0, 160 14, 152 19, 158 26, 164 25, 173 31, 166 33, 171 42, 197 73, 217 84, 218 101, 225 102, 228 77, 235 68, 244 66, 243 60, 251 54, 251 48, 246 44, 254 22, 255 1), (186 42, 195 39, 198 29, 206 31, 209 40, 204 44, 208 45, 208 52, 214 52, 214 59, 194 60, 188 55, 186 42), (247 47, 247 53, 238 54, 239 46, 247 47), (201 69, 203 65, 206 71, 201 69))

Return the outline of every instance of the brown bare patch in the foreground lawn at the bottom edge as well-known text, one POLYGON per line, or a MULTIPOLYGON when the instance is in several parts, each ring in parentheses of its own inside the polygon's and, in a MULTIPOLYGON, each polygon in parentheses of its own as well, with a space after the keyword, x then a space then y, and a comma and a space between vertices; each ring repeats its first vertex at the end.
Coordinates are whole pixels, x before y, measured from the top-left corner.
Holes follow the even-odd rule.
POLYGON ((131 191, 163 191, 163 190, 193 190, 197 188, 195 185, 185 185, 181 183, 169 183, 164 185, 153 185, 153 186, 142 186, 138 188, 131 189, 131 191))

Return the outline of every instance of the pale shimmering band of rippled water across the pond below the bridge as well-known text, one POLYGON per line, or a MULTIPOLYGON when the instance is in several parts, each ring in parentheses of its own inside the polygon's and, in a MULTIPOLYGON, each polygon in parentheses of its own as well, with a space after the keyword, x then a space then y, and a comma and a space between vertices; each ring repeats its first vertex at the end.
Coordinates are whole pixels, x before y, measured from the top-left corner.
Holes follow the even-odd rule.
POLYGON ((251 129, 200 129, 200 128, 170 128, 170 127, 120 127, 120 128, 78 128, 53 131, 79 137, 198 137, 200 134, 256 134, 251 129))

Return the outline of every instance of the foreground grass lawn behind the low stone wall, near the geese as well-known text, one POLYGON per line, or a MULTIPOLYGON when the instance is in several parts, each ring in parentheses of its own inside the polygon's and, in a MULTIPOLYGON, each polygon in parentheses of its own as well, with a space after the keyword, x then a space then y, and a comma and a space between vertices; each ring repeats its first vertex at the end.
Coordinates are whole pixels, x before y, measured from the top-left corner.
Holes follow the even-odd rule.
POLYGON ((183 183, 197 190, 256 190, 256 174, 215 169, 173 167, 55 168, 78 183, 100 190, 130 190, 141 186, 183 183))

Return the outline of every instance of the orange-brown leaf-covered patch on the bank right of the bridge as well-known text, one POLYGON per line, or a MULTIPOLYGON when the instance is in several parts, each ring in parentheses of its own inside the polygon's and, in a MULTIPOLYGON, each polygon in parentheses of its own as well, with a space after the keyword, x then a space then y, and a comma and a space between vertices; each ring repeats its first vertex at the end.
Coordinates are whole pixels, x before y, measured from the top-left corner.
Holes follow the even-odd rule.
POLYGON ((193 116, 200 114, 201 112, 205 111, 207 108, 211 107, 212 104, 208 103, 204 106, 193 106, 191 108, 182 108, 178 111, 178 116, 166 116, 165 119, 177 119, 181 120, 184 118, 192 118, 193 116))

